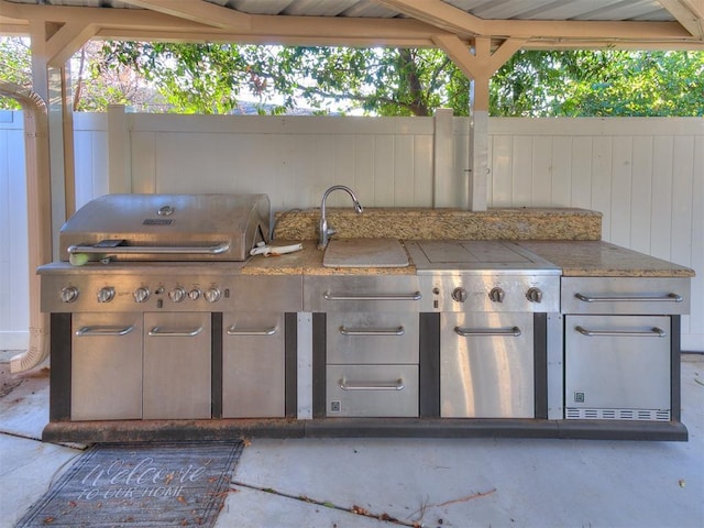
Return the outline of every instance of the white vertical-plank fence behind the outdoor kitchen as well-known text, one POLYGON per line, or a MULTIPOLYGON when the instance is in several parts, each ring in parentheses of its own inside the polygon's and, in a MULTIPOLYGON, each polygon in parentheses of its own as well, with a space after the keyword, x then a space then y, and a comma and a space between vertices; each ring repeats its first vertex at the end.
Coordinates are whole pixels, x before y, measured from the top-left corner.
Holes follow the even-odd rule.
MULTIPOLYGON (((76 202, 266 193, 287 210, 318 207, 328 186, 345 184, 367 207, 463 207, 469 120, 439 119, 78 113, 76 202), (436 198, 438 179, 454 202, 436 198)), ((0 349, 26 336, 21 128, 21 114, 0 113, 0 349)), ((682 345, 704 351, 703 119, 490 119, 486 177, 490 207, 597 210, 604 240, 693 267, 682 345)))

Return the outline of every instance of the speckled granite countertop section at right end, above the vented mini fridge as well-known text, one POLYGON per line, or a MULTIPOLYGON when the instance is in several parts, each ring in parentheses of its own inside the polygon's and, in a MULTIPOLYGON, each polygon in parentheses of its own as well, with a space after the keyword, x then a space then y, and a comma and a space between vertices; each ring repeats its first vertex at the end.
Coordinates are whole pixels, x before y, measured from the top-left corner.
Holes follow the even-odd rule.
POLYGON ((693 277, 694 271, 603 241, 520 241, 565 277, 693 277))

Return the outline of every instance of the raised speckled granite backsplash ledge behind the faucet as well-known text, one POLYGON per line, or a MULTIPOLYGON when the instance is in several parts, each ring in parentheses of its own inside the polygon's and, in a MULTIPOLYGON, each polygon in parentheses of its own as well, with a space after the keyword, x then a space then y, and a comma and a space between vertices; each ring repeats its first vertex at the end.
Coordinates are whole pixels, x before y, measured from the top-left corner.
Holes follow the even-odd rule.
MULTIPOLYGON (((276 215, 275 237, 317 240, 320 209, 276 215)), ((517 208, 464 211, 430 208, 328 209, 336 237, 400 240, 601 240, 602 213, 585 209, 517 208)))

